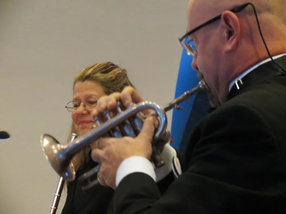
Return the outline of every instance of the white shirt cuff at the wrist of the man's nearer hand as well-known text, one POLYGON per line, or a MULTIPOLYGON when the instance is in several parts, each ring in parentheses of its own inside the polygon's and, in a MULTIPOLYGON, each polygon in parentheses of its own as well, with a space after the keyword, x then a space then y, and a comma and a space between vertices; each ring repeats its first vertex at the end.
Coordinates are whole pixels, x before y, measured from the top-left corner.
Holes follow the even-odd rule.
POLYGON ((132 156, 124 159, 119 165, 116 173, 116 187, 118 187, 123 178, 135 172, 145 173, 156 181, 156 174, 152 163, 144 157, 132 156))

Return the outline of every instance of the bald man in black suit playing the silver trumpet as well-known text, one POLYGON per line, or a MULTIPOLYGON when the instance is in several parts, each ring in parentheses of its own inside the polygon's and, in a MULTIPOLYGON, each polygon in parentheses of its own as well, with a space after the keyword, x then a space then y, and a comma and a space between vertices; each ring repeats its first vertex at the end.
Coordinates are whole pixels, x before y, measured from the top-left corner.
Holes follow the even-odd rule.
MULTIPOLYGON (((99 180, 116 189, 110 213, 286 213, 286 1, 252 2, 271 57, 252 5, 190 1, 180 42, 217 108, 195 129, 186 171, 163 195, 150 162, 154 118, 136 138, 93 145, 99 180)), ((143 101, 128 87, 102 97, 93 116, 120 100, 143 101)))

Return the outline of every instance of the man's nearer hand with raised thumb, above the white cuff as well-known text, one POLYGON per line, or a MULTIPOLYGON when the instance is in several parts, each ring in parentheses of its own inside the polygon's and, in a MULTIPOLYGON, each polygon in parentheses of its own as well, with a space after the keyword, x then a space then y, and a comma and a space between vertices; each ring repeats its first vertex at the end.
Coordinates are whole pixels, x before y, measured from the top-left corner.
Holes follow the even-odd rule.
POLYGON ((101 138, 92 144, 91 158, 101 162, 99 172, 101 182, 115 189, 116 172, 124 159, 131 156, 142 156, 150 160, 154 131, 154 122, 151 117, 148 117, 136 138, 101 138))

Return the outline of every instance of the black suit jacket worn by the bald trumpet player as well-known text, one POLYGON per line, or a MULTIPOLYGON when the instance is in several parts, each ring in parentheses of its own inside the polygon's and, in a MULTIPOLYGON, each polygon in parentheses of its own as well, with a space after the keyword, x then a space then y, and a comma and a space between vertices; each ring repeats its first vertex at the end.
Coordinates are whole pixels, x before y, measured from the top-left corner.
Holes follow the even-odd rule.
MULTIPOLYGON (((286 70, 286 56, 276 61, 286 70)), ((165 194, 130 174, 109 213, 286 213, 286 75, 269 62, 242 82, 195 129, 165 194)))

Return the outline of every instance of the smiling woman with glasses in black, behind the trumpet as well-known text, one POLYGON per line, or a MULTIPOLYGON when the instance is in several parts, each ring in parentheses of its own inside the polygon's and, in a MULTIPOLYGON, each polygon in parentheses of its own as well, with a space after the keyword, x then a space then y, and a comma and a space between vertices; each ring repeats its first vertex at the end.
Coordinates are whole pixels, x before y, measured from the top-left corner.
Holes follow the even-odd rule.
MULTIPOLYGON (((74 80, 72 102, 67 104, 67 110, 72 113, 71 133, 80 136, 91 131, 91 127, 95 125, 91 111, 96 106, 97 99, 121 92, 128 85, 133 86, 127 77, 126 69, 111 62, 97 63, 83 69, 74 80)), ((97 165, 91 159, 89 151, 88 146, 72 159, 76 179, 67 183, 67 199, 62 214, 106 213, 113 190, 96 184, 83 191, 82 183, 78 182, 80 175, 97 165)))

